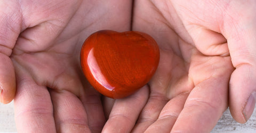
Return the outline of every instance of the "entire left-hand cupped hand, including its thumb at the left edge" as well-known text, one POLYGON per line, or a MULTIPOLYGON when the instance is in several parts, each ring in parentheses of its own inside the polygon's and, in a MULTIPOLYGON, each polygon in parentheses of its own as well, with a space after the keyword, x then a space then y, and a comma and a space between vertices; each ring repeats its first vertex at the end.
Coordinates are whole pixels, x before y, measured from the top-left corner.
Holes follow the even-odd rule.
POLYGON ((1 101, 10 102, 17 87, 19 132, 101 131, 106 121, 101 95, 86 83, 79 53, 95 31, 130 30, 131 4, 0 2, 1 101))

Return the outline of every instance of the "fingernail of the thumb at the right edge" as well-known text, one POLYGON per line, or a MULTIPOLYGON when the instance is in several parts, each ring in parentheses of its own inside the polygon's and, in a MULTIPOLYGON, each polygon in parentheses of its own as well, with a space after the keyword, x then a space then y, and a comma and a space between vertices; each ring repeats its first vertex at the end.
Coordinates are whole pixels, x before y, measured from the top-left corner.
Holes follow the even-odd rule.
POLYGON ((252 93, 247 99, 246 105, 243 110, 244 117, 247 120, 251 117, 256 103, 256 93, 252 93))

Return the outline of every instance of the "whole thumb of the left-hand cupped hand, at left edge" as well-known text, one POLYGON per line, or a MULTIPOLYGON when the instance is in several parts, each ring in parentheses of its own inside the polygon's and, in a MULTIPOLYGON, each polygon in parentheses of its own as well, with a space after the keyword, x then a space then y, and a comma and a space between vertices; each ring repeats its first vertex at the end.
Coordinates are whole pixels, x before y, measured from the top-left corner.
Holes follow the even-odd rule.
POLYGON ((14 1, 0 3, 0 102, 9 103, 15 95, 16 83, 12 49, 21 31, 21 15, 14 1))

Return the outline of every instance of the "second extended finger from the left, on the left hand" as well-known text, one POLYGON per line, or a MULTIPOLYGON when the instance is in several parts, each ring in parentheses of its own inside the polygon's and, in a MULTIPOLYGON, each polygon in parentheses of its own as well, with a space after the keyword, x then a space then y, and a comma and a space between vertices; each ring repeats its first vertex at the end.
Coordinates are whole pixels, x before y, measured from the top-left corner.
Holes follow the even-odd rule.
POLYGON ((86 111, 76 95, 68 91, 50 91, 57 132, 91 132, 86 111))

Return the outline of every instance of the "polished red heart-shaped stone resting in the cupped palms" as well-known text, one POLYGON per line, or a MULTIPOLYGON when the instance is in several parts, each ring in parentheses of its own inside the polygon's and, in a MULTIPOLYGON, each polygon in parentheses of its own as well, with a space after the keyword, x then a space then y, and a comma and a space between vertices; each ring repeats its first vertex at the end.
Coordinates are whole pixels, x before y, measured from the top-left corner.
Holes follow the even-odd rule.
POLYGON ((91 34, 81 50, 81 66, 90 84, 113 99, 147 84, 159 63, 157 43, 138 31, 102 30, 91 34))

